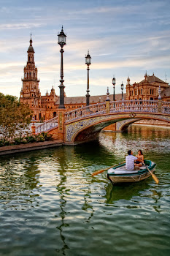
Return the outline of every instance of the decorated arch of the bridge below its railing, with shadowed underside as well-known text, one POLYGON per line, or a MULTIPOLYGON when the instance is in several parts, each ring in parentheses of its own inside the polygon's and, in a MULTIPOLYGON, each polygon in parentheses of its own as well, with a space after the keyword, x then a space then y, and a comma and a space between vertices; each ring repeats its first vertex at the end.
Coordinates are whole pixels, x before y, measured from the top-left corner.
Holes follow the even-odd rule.
POLYGON ((108 113, 105 115, 90 116, 89 118, 74 121, 66 124, 65 142, 74 144, 85 141, 95 140, 99 132, 109 124, 117 123, 117 131, 125 130, 130 124, 141 119, 155 119, 170 123, 170 116, 164 116, 160 113, 108 113))

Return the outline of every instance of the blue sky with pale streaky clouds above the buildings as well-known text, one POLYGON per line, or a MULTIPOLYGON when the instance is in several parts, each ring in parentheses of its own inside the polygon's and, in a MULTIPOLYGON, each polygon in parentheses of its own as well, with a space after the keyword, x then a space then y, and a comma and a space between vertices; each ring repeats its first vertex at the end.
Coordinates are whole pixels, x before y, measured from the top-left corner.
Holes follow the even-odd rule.
MULTIPOLYGON (((61 53, 67 97, 85 96, 90 53, 90 95, 121 92, 144 74, 170 83, 169 0, 0 0, 0 92, 20 97, 23 67, 32 34, 42 95, 59 95, 61 53)), ((125 90, 123 91, 125 92, 125 90)))

